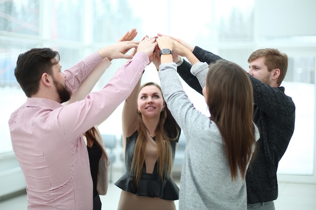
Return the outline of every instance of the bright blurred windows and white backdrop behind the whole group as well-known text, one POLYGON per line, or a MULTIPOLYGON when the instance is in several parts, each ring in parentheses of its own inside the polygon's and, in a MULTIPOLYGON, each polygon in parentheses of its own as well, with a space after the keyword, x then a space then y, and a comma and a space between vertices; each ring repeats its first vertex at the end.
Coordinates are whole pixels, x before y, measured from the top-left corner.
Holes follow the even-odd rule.
MULTIPOLYGON (((25 189, 8 126, 10 114, 26 100, 14 77, 18 55, 50 47, 60 52, 65 70, 132 28, 138 31, 135 40, 157 32, 172 35, 234 61, 246 71, 248 56, 258 48, 285 52, 289 67, 282 86, 296 105, 296 123, 279 164, 278 180, 315 184, 315 8, 313 0, 1 0, 0 200, 25 189)), ((124 63, 124 59, 113 60, 94 91, 106 85, 124 63)), ((159 83, 153 64, 145 69, 142 82, 148 81, 159 83)), ((207 114, 203 97, 184 82, 183 87, 197 109, 207 114)), ((116 136, 114 170, 124 170, 121 111, 122 104, 99 126, 103 134, 116 136)))

